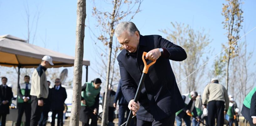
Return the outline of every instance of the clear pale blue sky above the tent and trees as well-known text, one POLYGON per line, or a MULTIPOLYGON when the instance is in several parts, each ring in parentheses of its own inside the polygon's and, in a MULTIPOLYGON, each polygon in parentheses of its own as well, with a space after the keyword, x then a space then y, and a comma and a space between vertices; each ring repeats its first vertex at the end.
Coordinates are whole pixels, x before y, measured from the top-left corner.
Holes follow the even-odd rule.
MULTIPOLYGON (((10 34, 23 39, 27 38, 25 8, 28 4, 31 20, 33 20, 33 16, 36 12, 40 12, 34 44, 75 56, 76 2, 77 1, 74 0, 0 0, 0 35, 10 34), (44 40, 46 40, 46 44, 43 42, 44 40)), ((245 32, 248 32, 256 27, 256 1, 246 0, 243 2, 243 28, 245 32)), ((215 55, 222 50, 221 44, 227 42, 227 37, 224 35, 226 30, 223 29, 222 25, 222 21, 224 20, 224 17, 221 15, 222 3, 225 3, 225 1, 144 0, 140 8, 142 11, 131 21, 136 24, 142 35, 159 34, 165 37, 159 30, 171 28, 170 22, 185 23, 195 30, 204 28, 205 33, 209 34, 209 38, 213 39, 209 46, 214 49, 212 55, 215 55)), ((104 2, 97 3, 97 7, 101 9, 112 8, 111 4, 105 4, 104 2)), ((93 32, 99 33, 99 30, 94 27, 97 22, 95 21, 95 17, 92 17, 91 13, 92 0, 86 1, 86 11, 86 25, 90 26, 93 32)), ((34 35, 34 30, 32 31, 32 35, 34 35)), ((94 64, 97 62, 95 61, 96 56, 94 56, 95 51, 93 48, 95 45, 90 35, 91 32, 88 27, 86 27, 84 59, 91 61, 88 77, 89 80, 93 80, 97 77, 97 74, 91 70, 91 67, 95 67, 94 64)), ((241 35, 243 35, 243 32, 241 35)), ((249 51, 252 51, 255 47, 255 35, 256 30, 246 36, 249 51)), ((254 51, 252 57, 253 62, 255 62, 256 59, 255 53, 254 51)), ((211 58, 211 56, 208 57, 211 58)), ((69 77, 72 78, 73 71, 71 70, 72 68, 70 68, 69 77)), ((85 82, 84 67, 83 70, 84 78, 82 79, 82 83, 85 82)))

